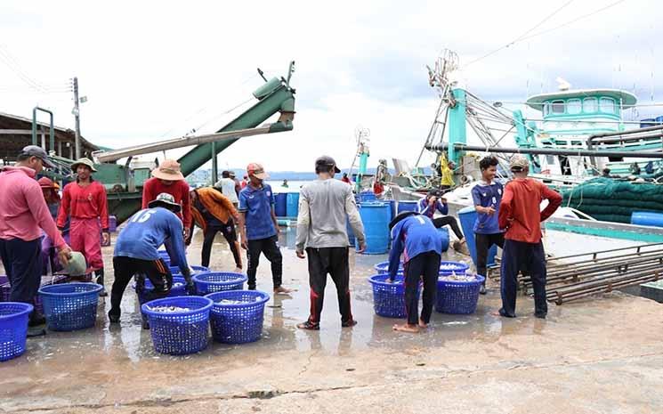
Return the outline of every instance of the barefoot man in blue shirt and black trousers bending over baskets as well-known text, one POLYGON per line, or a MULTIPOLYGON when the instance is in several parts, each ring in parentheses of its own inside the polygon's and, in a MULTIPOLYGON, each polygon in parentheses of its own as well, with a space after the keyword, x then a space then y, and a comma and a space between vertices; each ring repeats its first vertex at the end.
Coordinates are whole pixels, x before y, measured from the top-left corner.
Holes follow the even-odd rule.
POLYGON ((440 272, 442 236, 431 219, 414 211, 402 212, 389 223, 392 250, 389 252, 389 280, 394 281, 404 256, 405 310, 407 321, 393 330, 416 333, 431 321, 437 278, 440 272), (418 313, 419 283, 424 282, 421 315, 418 313))

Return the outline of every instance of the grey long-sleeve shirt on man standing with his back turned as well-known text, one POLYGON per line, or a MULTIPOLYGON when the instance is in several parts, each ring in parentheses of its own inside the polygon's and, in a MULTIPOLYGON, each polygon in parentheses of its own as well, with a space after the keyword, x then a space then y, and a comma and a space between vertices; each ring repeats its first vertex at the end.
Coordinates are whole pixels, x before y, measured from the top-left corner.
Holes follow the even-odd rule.
MULTIPOLYGON (((301 202, 309 215, 308 231, 297 229, 297 244, 310 248, 342 248, 348 246, 346 203, 354 202, 352 189, 338 180, 316 180, 306 184, 301 191, 301 202)), ((363 234, 361 234, 363 239, 363 234)))

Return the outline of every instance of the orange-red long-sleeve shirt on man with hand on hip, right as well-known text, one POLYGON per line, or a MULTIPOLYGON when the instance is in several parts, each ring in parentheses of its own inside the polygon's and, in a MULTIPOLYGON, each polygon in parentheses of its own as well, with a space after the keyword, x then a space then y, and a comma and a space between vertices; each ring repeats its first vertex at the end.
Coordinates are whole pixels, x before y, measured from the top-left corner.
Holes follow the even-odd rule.
POLYGON ((541 241, 541 222, 553 215, 562 204, 562 196, 546 184, 531 178, 516 178, 506 183, 499 205, 499 228, 506 229, 505 239, 538 243, 541 241), (541 210, 541 201, 548 205, 541 210))

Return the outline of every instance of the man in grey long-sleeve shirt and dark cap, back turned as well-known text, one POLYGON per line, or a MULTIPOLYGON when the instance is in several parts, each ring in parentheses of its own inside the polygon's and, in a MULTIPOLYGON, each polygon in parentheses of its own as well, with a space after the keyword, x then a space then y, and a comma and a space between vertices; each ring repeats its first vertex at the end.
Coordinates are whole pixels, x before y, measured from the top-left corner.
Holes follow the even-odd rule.
POLYGON ((360 252, 366 249, 366 237, 352 189, 334 180, 334 175, 340 172, 334 158, 320 157, 315 160, 318 179, 304 185, 300 192, 295 251, 301 259, 308 255, 311 286, 311 313, 307 321, 297 325, 300 329, 319 329, 327 273, 336 285, 341 326, 357 324, 350 304, 346 220, 352 226, 360 252))

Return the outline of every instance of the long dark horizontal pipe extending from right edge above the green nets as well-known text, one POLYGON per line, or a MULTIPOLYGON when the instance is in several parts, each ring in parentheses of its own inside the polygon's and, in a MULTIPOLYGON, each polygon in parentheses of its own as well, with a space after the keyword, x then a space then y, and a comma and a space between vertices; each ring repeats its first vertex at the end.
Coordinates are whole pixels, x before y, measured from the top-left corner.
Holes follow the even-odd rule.
MULTIPOLYGON (((500 148, 500 147, 481 147, 478 145, 465 145, 464 143, 455 143, 451 145, 457 151, 485 151, 485 152, 505 152, 510 154, 535 154, 535 155, 562 155, 573 157, 606 157, 606 158, 663 158, 663 152, 639 152, 639 151, 598 151, 598 150, 557 150, 552 148, 500 148)), ((449 143, 442 142, 438 145, 426 147, 426 150, 446 150, 449 143)))

